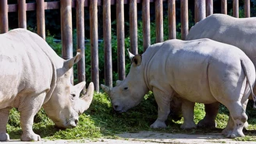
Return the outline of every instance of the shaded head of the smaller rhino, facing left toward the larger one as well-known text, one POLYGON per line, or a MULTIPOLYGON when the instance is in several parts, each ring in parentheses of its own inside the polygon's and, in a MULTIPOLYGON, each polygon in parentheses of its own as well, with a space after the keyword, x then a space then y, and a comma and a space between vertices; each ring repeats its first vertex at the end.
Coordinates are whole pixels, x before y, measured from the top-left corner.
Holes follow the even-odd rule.
POLYGON ((137 54, 131 59, 132 65, 126 79, 118 80, 113 88, 101 84, 102 90, 105 90, 111 99, 112 107, 120 113, 137 106, 148 93, 148 87, 144 81, 144 66, 140 65, 141 56, 137 54))

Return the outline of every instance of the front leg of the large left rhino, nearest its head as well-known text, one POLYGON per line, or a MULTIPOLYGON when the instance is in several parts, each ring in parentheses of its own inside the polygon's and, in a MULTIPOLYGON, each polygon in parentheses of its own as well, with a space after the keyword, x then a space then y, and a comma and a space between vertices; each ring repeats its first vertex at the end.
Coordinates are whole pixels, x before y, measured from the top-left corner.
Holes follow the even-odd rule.
POLYGON ((23 99, 23 104, 20 104, 18 110, 20 111, 20 127, 22 128, 22 141, 40 141, 40 135, 33 132, 32 126, 34 122, 34 115, 40 110, 44 103, 45 93, 37 96, 27 96, 23 99))

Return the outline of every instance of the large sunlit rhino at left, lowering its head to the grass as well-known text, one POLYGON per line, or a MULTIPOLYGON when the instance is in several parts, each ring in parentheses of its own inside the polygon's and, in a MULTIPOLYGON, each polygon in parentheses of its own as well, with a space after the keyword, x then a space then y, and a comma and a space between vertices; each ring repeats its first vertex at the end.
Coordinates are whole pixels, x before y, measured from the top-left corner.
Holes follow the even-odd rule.
POLYGON ((22 141, 41 139, 33 132, 32 125, 42 106, 57 127, 77 125, 94 93, 94 85, 90 83, 80 98, 85 82, 76 86, 70 82, 70 69, 80 58, 79 51, 69 60, 60 58, 45 40, 28 30, 0 34, 0 141, 9 140, 6 125, 12 107, 20 111, 22 141))

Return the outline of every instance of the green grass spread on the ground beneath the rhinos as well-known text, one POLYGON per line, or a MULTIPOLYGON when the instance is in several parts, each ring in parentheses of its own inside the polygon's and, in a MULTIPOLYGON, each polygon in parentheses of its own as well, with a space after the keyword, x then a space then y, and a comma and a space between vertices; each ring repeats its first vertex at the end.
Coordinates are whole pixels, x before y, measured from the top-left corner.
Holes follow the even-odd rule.
MULTIPOLYGON (((247 114, 249 116, 248 131, 244 138, 236 138, 238 141, 256 141, 256 112, 251 108, 252 104, 248 104, 247 114)), ((204 118, 204 105, 196 104, 194 111, 194 121, 197 123, 204 118)), ((154 96, 149 93, 144 100, 137 106, 123 114, 118 114, 112 109, 110 100, 105 93, 94 93, 94 100, 91 107, 82 115, 80 115, 79 125, 71 129, 55 128, 54 123, 41 110, 34 118, 34 132, 41 135, 43 139, 98 139, 112 138, 116 139, 116 134, 122 132, 139 132, 139 131, 160 131, 169 133, 188 133, 188 134, 207 134, 213 132, 221 132, 226 127, 228 120, 228 111, 226 107, 221 106, 219 114, 216 118, 217 128, 194 128, 183 130, 180 121, 172 121, 170 118, 166 121, 168 125, 165 129, 152 129, 149 126, 157 118, 157 104, 154 96)), ((9 125, 7 126, 10 139, 20 139, 20 114, 16 109, 12 109, 9 125)))

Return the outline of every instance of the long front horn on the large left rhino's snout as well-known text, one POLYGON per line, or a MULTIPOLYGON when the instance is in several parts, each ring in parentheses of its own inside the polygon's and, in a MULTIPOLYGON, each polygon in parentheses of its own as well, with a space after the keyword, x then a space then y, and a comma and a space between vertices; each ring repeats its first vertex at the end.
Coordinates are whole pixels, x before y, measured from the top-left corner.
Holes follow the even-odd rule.
MULTIPOLYGON (((84 86, 85 88, 85 86, 84 86)), ((94 83, 90 83, 87 90, 82 90, 82 96, 80 97, 80 100, 82 101, 82 107, 78 110, 79 114, 83 114, 84 111, 86 111, 90 105, 92 98, 94 97, 94 83), (86 91, 84 93, 84 91, 86 91)))

